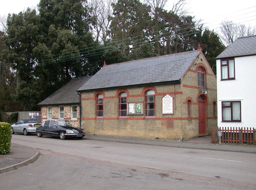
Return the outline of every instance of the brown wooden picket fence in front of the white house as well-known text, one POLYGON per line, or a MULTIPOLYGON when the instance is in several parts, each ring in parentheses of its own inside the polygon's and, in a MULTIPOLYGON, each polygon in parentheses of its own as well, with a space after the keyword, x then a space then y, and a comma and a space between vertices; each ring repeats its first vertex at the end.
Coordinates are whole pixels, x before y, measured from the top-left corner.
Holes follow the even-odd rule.
POLYGON ((212 127, 212 143, 219 143, 219 132, 221 143, 256 145, 255 128, 212 127))

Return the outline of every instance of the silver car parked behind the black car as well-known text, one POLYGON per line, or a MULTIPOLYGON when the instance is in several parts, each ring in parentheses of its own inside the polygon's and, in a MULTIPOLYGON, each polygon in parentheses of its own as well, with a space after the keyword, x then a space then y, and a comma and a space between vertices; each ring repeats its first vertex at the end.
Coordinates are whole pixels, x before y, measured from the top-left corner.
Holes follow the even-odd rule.
POLYGON ((12 134, 23 133, 28 135, 28 133, 36 133, 36 128, 42 125, 39 121, 33 119, 19 120, 12 125, 12 134))

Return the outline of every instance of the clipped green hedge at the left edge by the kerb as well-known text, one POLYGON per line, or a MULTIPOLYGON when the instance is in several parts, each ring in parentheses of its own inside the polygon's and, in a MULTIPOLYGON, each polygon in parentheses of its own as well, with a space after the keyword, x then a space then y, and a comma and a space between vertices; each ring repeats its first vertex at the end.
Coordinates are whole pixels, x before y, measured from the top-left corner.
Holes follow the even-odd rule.
POLYGON ((0 154, 10 152, 12 140, 11 129, 11 124, 0 122, 0 154))

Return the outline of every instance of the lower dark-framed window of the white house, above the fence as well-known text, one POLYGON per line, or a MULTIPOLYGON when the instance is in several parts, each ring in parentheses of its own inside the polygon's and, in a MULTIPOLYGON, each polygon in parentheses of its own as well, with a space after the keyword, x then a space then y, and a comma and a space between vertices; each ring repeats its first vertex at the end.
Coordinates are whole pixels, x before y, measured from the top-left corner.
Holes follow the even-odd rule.
POLYGON ((241 122, 241 101, 224 101, 222 106, 222 122, 241 122))

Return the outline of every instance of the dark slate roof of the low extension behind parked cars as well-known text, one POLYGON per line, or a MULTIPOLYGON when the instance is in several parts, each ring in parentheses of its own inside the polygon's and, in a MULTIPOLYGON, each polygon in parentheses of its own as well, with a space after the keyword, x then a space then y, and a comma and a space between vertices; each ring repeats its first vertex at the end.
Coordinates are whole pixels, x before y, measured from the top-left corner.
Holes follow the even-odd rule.
POLYGON ((91 76, 74 78, 48 98, 37 104, 38 106, 78 104, 80 97, 76 90, 86 83, 91 76))

